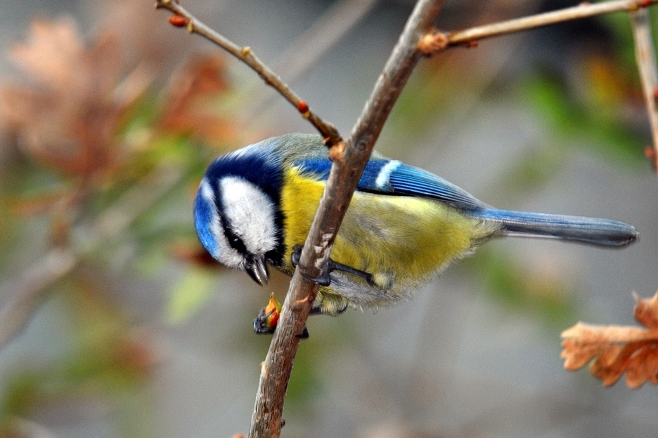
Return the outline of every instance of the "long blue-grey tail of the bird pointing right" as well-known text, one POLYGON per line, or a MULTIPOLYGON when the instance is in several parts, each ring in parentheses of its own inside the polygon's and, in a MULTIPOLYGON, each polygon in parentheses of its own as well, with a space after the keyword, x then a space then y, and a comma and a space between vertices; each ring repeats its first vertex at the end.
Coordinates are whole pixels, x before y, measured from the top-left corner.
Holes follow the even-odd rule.
POLYGON ((503 224, 505 234, 557 237, 601 246, 626 246, 638 238, 635 227, 617 220, 496 210, 470 213, 503 224))

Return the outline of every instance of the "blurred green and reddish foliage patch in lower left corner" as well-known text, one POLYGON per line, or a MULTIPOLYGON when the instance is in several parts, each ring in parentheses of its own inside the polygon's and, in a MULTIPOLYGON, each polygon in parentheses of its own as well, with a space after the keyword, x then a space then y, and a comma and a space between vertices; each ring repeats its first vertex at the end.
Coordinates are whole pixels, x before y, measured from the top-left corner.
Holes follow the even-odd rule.
MULTIPOLYGON (((154 357, 147 339, 132 333, 120 310, 91 284, 76 283, 63 284, 65 292, 57 293, 49 304, 66 312, 69 327, 62 334, 72 339, 70 347, 49 360, 9 371, 0 397, 0 434, 11 433, 14 418, 29 418, 42 409, 85 400, 96 400, 98 406, 125 406, 133 400, 139 401, 132 403, 133 409, 116 409, 117 424, 124 425, 123 436, 149 436, 143 434, 150 404, 145 385, 154 357), (141 426, 127 421, 136 413, 141 426)), ((153 425, 149 428, 153 430, 153 425)))

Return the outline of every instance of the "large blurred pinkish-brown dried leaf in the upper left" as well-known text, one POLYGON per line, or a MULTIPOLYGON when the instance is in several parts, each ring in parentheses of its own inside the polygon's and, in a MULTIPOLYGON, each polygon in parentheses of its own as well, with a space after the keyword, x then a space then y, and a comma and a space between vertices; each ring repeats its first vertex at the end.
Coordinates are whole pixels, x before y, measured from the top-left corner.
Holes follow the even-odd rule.
POLYGON ((0 117, 25 152, 84 181, 110 171, 119 117, 131 103, 113 94, 122 69, 116 34, 86 46, 72 20, 35 20, 11 58, 29 85, 0 90, 0 117))

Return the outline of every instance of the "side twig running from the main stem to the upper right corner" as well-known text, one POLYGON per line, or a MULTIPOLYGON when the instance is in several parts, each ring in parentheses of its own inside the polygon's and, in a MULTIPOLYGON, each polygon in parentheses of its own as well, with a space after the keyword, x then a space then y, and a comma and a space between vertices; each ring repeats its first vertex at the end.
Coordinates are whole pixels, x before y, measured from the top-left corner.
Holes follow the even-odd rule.
POLYGON ((620 11, 638 11, 640 8, 646 8, 656 3, 658 3, 658 0, 616 0, 595 4, 585 2, 571 8, 471 27, 470 29, 456 30, 453 32, 434 31, 423 39, 421 49, 428 56, 431 56, 451 46, 469 46, 481 39, 491 38, 492 36, 511 34, 513 32, 555 25, 559 22, 579 20, 595 15, 620 11))

